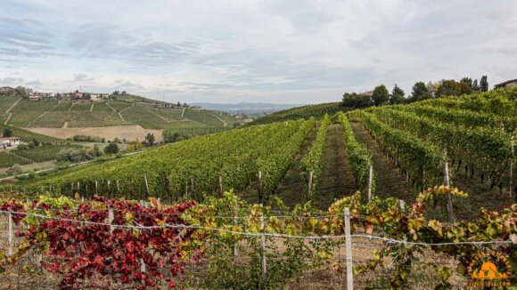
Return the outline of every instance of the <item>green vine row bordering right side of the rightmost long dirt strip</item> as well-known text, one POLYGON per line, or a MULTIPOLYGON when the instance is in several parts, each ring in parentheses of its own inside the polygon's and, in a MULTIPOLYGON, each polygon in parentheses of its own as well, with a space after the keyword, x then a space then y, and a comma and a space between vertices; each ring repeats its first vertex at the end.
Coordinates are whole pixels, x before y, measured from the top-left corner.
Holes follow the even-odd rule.
POLYGON ((388 151, 391 157, 396 157, 398 165, 411 174, 414 181, 422 186, 430 182, 441 183, 445 155, 437 146, 392 128, 365 110, 352 111, 349 117, 365 125, 382 149, 388 151))

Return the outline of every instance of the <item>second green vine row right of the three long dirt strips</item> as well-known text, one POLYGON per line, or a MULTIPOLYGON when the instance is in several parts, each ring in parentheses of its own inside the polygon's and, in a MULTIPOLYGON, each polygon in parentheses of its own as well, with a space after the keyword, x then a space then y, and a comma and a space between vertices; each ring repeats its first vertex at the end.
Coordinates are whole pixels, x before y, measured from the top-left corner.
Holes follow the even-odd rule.
POLYGON ((508 178, 513 160, 511 138, 501 130, 440 123, 439 119, 396 109, 370 111, 382 122, 446 149, 448 156, 462 160, 471 171, 479 167, 476 169, 496 183, 508 178))

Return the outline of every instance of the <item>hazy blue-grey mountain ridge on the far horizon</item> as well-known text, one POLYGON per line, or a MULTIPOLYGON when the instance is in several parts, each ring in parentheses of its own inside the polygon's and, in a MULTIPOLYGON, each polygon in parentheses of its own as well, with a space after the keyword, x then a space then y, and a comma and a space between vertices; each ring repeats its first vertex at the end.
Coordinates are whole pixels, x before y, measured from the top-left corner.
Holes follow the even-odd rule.
POLYGON ((262 102, 240 102, 236 104, 232 103, 210 103, 210 102, 196 102, 192 103, 193 106, 200 106, 203 109, 216 109, 226 112, 234 111, 248 111, 248 112, 274 112, 283 109, 291 109, 294 107, 300 107, 300 104, 273 104, 273 103, 262 103, 262 102))

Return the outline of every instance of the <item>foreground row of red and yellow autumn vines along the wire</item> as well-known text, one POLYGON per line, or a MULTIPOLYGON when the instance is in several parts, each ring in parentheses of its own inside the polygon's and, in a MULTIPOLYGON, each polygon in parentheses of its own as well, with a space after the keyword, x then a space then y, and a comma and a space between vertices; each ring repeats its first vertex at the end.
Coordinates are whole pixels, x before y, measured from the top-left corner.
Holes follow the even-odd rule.
POLYGON ((246 203, 233 192, 176 205, 156 198, 143 205, 105 197, 0 197, 0 214, 7 213, 10 224, 2 237, 7 243, 0 248, 0 278, 27 259, 33 260, 30 270, 41 267, 53 283, 61 280, 56 285, 61 289, 287 288, 314 270, 342 273, 336 248, 358 246, 359 255, 348 251, 354 262, 346 270, 359 281, 386 275, 373 288, 468 287, 472 268, 483 270, 479 254, 495 255, 490 252, 507 257, 496 267, 506 274, 504 286, 514 285, 517 205, 482 209, 468 221, 429 217, 431 200, 447 194, 468 197, 459 189, 436 186, 400 206, 393 197, 365 202, 357 192, 325 211, 307 205, 282 212, 246 203), (365 245, 372 253, 362 259, 365 245), (30 252, 41 258, 31 258, 30 252), (390 263, 384 263, 387 259, 390 263), (425 284, 414 279, 422 279, 419 270, 430 278, 425 284))

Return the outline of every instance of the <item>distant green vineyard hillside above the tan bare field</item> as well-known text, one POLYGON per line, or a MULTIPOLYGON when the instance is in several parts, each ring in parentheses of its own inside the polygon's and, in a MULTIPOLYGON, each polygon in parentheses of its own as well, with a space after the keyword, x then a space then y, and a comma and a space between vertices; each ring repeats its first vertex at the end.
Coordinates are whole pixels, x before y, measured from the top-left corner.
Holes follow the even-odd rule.
POLYGON ((161 101, 119 95, 116 101, 29 101, 0 97, 0 122, 21 128, 140 125, 144 129, 226 127, 242 122, 214 110, 165 107, 161 101))

